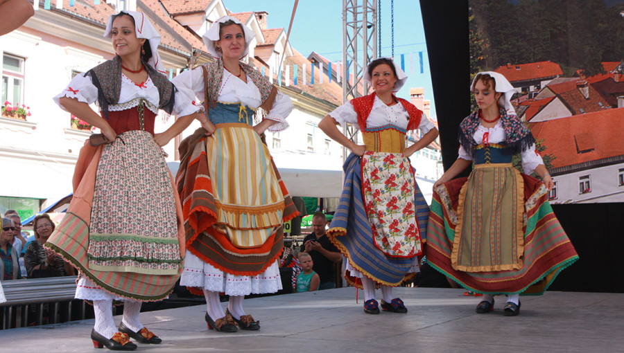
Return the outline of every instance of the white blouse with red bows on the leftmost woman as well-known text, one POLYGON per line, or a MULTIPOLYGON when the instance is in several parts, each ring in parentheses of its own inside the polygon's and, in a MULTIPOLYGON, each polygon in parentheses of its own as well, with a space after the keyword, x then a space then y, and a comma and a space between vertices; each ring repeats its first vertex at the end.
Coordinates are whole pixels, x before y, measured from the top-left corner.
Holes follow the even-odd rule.
MULTIPOLYGON (((98 99, 98 89, 94 86, 91 78, 85 76, 85 73, 76 75, 71 82, 67 85, 61 93, 53 98, 54 102, 64 111, 67 111, 62 105, 59 104, 60 98, 76 98, 79 102, 85 102, 88 105, 96 102, 98 99)), ((137 98, 144 98, 150 105, 146 105, 148 109, 153 111, 154 114, 158 114, 158 103, 160 96, 158 89, 148 77, 146 82, 142 82, 140 85, 132 82, 123 73, 121 74, 121 92, 119 93, 119 103, 116 105, 110 105, 110 111, 121 111, 130 109, 139 105, 137 98)), ((173 104, 173 115, 187 116, 198 111, 199 108, 191 103, 191 100, 184 94, 176 94, 175 102, 173 104)))

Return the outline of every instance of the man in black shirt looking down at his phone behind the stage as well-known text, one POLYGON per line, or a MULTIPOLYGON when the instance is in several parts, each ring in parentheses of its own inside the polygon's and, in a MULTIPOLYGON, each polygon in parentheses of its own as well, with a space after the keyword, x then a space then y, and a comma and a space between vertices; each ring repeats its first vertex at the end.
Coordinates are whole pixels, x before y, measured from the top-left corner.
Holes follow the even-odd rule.
POLYGON ((320 277, 318 289, 336 288, 336 271, 333 269, 334 262, 340 262, 342 255, 338 248, 331 244, 325 234, 327 218, 323 212, 315 212, 312 216, 312 233, 303 241, 300 251, 309 253, 313 261, 313 270, 320 277))

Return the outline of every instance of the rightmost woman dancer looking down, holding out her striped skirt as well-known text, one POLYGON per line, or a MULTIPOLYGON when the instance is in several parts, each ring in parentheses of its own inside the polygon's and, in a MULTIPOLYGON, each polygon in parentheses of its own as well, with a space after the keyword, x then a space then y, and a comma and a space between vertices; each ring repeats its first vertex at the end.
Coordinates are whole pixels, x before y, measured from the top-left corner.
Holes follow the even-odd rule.
POLYGON ((510 103, 514 88, 500 73, 483 72, 471 91, 479 109, 462 120, 459 157, 433 185, 427 260, 485 295, 479 314, 502 293, 505 315, 516 316, 520 293, 544 293, 578 255, 548 203, 553 179, 510 103), (526 174, 512 166, 517 153, 526 174), (451 180, 473 162, 469 177, 451 180), (541 181, 527 175, 534 170, 541 181))

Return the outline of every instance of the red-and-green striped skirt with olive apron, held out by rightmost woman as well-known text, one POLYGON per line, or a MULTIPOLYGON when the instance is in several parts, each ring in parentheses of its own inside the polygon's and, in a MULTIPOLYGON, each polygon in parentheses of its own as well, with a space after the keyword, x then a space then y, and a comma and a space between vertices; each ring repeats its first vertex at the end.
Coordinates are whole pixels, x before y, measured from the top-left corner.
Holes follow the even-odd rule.
POLYGON ((433 193, 426 257, 478 293, 539 295, 578 255, 541 181, 512 165, 477 165, 433 193))

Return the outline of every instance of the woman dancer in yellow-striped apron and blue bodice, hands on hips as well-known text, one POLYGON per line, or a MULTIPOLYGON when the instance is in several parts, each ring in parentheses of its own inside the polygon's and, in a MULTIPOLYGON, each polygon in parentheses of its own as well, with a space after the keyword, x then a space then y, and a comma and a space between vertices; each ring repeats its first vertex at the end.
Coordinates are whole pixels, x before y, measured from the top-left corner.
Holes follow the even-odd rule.
POLYGON ((237 19, 218 19, 203 36, 216 61, 174 80, 189 97, 205 102, 209 119, 205 129, 180 145, 183 157, 176 182, 184 201, 189 250, 180 284, 204 293, 205 320, 220 332, 235 332, 236 325, 260 328, 245 314, 243 298, 281 289, 281 224, 298 214, 261 141, 266 129, 288 127, 285 119, 293 104, 252 66, 239 61, 253 38, 252 30, 237 19), (259 108, 266 116, 253 125, 259 108), (213 129, 206 137, 205 130, 213 129), (229 295, 227 312, 220 305, 223 292, 229 295))

